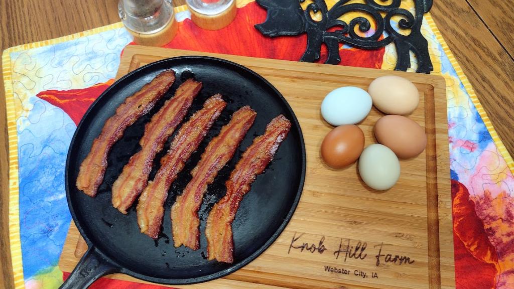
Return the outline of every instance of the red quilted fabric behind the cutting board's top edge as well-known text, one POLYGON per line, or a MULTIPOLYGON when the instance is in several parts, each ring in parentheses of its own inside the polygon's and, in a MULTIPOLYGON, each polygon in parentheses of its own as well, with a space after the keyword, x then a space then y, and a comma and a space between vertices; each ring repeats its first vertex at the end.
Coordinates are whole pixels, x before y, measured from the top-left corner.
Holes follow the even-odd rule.
MULTIPOLYGON (((298 61, 307 45, 306 34, 295 37, 266 37, 254 28, 266 20, 266 10, 256 3, 250 3, 237 10, 234 21, 227 27, 210 31, 196 26, 186 19, 179 23, 175 38, 164 45, 166 48, 186 49, 213 53, 225 53, 250 57, 298 61)), ((340 50, 340 65, 380 68, 385 49, 340 50)), ((323 63, 327 57, 325 46, 321 49, 323 63)))

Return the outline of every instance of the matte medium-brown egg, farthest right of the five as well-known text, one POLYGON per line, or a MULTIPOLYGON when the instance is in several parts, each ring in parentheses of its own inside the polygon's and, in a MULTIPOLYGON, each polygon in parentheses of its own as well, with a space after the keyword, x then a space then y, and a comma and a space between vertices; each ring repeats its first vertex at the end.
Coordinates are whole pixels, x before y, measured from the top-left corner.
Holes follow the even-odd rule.
POLYGON ((383 116, 375 123, 373 131, 377 141, 399 158, 415 157, 427 147, 425 129, 405 116, 383 116))

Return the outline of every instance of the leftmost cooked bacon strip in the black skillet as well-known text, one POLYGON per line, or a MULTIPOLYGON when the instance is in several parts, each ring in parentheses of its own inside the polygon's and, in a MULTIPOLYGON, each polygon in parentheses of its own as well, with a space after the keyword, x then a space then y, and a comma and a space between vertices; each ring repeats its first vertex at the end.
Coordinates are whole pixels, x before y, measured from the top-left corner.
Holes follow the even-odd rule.
POLYGON ((118 106, 116 114, 107 119, 102 132, 93 141, 89 154, 80 165, 77 177, 79 190, 89 196, 96 196, 107 168, 107 154, 111 151, 114 143, 121 138, 129 125, 154 107, 157 100, 162 98, 173 82, 175 82, 175 72, 171 69, 163 71, 118 106))

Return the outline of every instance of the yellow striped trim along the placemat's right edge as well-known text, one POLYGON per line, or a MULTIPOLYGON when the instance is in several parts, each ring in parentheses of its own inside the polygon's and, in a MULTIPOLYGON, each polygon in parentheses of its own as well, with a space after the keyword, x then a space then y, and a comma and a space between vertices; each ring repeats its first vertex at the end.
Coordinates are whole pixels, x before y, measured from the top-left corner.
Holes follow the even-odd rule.
POLYGON ((469 82, 468 78, 464 74, 461 66, 458 64, 457 60, 453 56, 453 53, 451 52, 450 48, 448 47, 448 44, 446 44, 445 40, 443 39, 443 36, 439 32, 439 29, 437 29, 437 26, 435 25, 434 20, 432 19, 432 15, 430 13, 425 14, 425 19, 427 20, 430 28, 435 34, 435 37, 437 39, 437 42, 441 44, 443 47, 443 50, 446 53, 446 56, 450 60, 450 63, 452 64, 453 68, 455 69, 458 78, 462 81, 464 84, 464 88, 469 94, 469 97, 471 98, 471 101, 473 102, 476 111, 479 113, 480 117, 482 117, 482 120, 484 121, 484 124, 487 128, 487 131, 489 131, 489 134, 492 137, 492 140, 494 141, 496 147, 498 148, 498 151, 505 159, 505 162, 507 162, 507 166, 509 167, 510 171, 514 173, 514 160, 512 160, 512 156, 509 154, 507 149, 505 148, 505 145, 503 145, 502 140, 500 139, 500 136, 498 133, 494 130, 494 127, 487 116, 487 113, 484 110, 484 107, 480 103, 479 98, 476 96, 473 86, 471 86, 471 83, 469 82))

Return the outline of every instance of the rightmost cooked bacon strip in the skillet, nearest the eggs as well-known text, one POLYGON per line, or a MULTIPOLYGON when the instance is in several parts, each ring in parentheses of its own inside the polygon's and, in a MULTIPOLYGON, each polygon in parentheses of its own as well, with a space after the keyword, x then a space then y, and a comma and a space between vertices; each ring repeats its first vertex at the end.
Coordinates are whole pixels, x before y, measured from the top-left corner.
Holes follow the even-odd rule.
POLYGON ((209 260, 233 262, 232 221, 235 213, 255 176, 264 171, 290 128, 291 123, 283 115, 271 120, 266 132, 253 140, 230 173, 225 183, 227 194, 214 205, 207 218, 205 234, 209 260))

